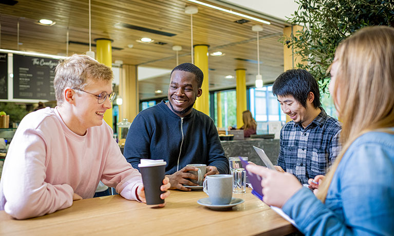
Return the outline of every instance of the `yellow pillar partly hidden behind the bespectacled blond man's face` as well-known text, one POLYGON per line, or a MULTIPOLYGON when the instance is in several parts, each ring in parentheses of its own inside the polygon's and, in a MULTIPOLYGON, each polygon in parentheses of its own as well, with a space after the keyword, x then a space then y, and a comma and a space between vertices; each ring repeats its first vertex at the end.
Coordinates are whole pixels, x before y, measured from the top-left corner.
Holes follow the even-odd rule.
MULTIPOLYGON (((107 38, 96 38, 96 58, 100 63, 112 67, 112 40, 107 38)), ((112 108, 104 113, 104 121, 112 128, 112 108)))

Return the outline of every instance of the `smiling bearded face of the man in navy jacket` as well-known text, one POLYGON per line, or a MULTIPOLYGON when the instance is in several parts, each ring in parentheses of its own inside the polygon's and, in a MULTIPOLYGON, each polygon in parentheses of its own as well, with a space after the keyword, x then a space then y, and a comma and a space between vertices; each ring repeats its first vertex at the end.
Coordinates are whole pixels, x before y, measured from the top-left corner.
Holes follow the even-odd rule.
POLYGON ((168 107, 180 117, 192 112, 196 98, 201 96, 202 89, 198 88, 196 76, 187 71, 175 70, 171 75, 168 88, 168 107))

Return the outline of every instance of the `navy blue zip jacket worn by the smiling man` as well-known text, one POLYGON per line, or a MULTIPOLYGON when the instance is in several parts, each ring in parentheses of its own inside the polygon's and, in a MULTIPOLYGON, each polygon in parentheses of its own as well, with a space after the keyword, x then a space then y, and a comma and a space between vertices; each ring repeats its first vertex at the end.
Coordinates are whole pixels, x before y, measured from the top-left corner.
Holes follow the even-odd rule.
POLYGON ((207 164, 216 166, 221 174, 229 173, 229 161, 211 117, 192 108, 181 119, 164 101, 135 117, 123 155, 136 169, 140 159, 163 159, 167 162, 165 174, 173 174, 187 164, 207 164))

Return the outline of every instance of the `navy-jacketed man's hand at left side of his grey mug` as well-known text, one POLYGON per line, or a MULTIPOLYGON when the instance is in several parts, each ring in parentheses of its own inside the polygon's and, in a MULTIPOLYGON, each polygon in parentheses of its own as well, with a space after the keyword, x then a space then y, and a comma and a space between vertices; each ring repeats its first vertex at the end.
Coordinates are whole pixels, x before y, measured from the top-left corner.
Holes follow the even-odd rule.
POLYGON ((168 179, 170 179, 170 183, 171 183, 170 189, 191 191, 192 189, 186 188, 183 185, 198 186, 198 184, 195 184, 195 183, 191 182, 190 180, 187 180, 187 179, 198 180, 197 175, 187 172, 190 170, 198 171, 198 168, 193 167, 193 166, 185 166, 173 174, 166 175, 168 177, 168 179))

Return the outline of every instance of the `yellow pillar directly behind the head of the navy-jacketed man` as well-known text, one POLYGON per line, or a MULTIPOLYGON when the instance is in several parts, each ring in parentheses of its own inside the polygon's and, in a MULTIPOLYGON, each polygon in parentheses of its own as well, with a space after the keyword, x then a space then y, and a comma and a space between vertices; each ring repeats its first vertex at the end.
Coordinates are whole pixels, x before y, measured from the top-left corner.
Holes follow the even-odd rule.
POLYGON ((195 108, 207 115, 209 115, 208 47, 208 45, 194 45, 194 65, 204 73, 202 95, 197 98, 195 108))

